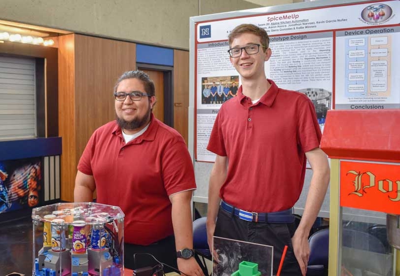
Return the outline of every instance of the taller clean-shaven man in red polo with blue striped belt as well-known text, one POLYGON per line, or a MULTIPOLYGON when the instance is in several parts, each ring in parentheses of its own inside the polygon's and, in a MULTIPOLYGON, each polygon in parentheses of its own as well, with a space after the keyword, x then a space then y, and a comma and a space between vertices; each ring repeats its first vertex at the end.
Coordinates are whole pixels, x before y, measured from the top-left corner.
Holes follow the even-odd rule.
POLYGON ((228 38, 242 85, 219 109, 207 147, 217 154, 208 193, 209 245, 213 235, 272 245, 273 275, 288 245, 282 275, 305 276, 308 235, 329 181, 315 109, 306 95, 266 79, 271 49, 263 29, 240 25, 228 38), (292 207, 303 187, 306 159, 313 175, 295 229, 292 207))

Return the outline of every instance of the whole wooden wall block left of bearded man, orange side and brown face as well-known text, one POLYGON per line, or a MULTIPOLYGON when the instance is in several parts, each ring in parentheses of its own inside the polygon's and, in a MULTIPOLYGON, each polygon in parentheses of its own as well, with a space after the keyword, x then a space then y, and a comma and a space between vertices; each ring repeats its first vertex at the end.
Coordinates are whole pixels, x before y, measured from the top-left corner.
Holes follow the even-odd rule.
POLYGON ((115 119, 116 79, 136 69, 136 44, 86 35, 60 37, 61 199, 73 201, 76 167, 92 133, 115 119))

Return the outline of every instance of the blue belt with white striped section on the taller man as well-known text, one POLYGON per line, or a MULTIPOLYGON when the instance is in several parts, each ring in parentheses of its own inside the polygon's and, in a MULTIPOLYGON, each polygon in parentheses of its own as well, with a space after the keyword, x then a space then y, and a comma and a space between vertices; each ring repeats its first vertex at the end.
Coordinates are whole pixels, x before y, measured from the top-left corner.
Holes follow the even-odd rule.
POLYGON ((294 221, 293 208, 270 213, 249 212, 229 205, 223 200, 221 201, 221 208, 247 221, 269 223, 292 223, 294 221))

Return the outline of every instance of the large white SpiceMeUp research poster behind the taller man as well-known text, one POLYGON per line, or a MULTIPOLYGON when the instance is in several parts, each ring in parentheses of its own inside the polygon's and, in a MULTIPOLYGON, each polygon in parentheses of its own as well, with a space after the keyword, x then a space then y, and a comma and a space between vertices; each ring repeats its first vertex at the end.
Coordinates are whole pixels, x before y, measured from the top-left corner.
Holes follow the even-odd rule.
POLYGON ((196 22, 195 159, 214 162, 207 144, 218 110, 241 84, 227 35, 255 24, 270 36, 267 78, 306 94, 321 130, 329 109, 400 108, 400 1, 369 1, 196 22))

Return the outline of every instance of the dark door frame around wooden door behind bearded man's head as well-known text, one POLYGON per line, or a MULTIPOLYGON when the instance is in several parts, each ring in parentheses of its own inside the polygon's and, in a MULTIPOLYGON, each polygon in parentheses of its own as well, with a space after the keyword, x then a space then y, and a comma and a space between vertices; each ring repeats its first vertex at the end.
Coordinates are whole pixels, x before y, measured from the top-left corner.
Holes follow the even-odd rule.
POLYGON ((136 69, 162 71, 164 74, 164 123, 174 127, 174 67, 147 63, 136 63, 136 69))

